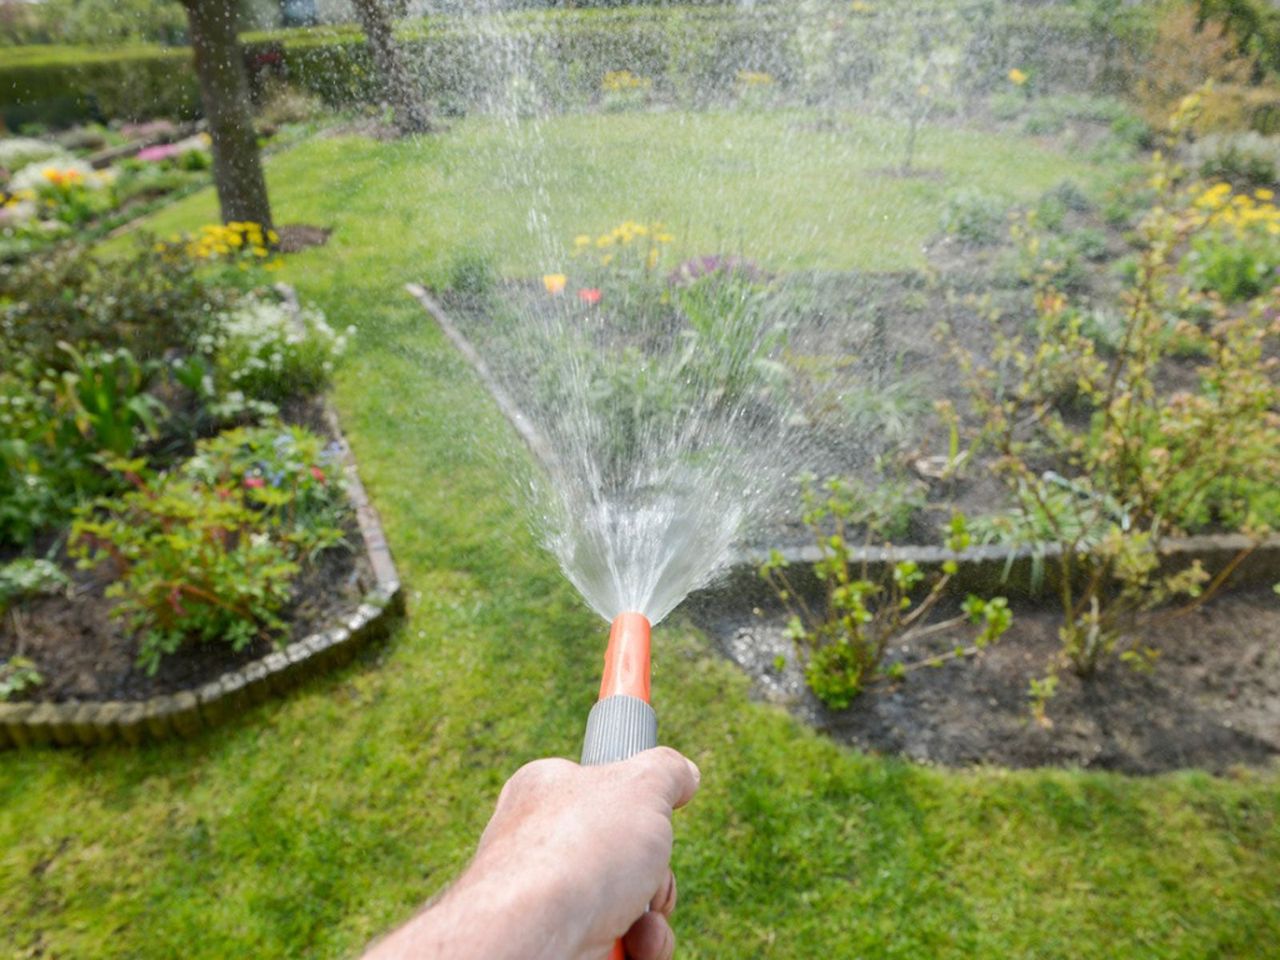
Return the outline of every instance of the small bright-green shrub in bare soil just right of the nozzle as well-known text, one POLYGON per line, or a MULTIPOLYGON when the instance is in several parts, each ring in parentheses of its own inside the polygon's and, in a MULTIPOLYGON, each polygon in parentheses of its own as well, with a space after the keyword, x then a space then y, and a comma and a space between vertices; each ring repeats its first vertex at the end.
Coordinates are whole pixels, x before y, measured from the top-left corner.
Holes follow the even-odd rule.
MULTIPOLYGON (((846 709, 868 684, 883 676, 884 657, 892 643, 923 639, 965 622, 977 628, 972 645, 922 660, 915 668, 973 655, 1009 628, 1011 613, 1002 596, 983 600, 973 595, 959 616, 925 626, 925 617, 956 572, 955 561, 943 563, 932 577, 911 561, 890 561, 882 573, 873 576, 865 554, 861 561, 855 559, 849 534, 851 527, 864 526, 870 539, 883 530, 887 517, 879 504, 864 500, 844 481, 829 480, 822 495, 806 488, 805 506, 804 522, 822 552, 814 575, 826 588, 824 605, 812 607, 792 588, 786 575, 787 562, 777 550, 760 573, 786 605, 787 635, 805 664, 805 682, 827 707, 846 709), (922 590, 923 596, 913 599, 922 590)), ((955 515, 947 547, 959 552, 968 544, 964 517, 955 515)), ((896 664, 888 673, 899 677, 906 668, 896 664)))

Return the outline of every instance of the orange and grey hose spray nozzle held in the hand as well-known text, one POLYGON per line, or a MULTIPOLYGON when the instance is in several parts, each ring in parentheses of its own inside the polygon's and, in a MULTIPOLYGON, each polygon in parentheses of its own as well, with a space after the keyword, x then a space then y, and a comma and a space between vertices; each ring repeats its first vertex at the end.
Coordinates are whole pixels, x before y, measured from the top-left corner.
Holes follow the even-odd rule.
MULTIPOLYGON (((616 763, 658 745, 658 714, 649 705, 649 620, 620 613, 609 628, 600 696, 586 718, 582 764, 616 763)), ((622 941, 609 960, 626 960, 622 941)))

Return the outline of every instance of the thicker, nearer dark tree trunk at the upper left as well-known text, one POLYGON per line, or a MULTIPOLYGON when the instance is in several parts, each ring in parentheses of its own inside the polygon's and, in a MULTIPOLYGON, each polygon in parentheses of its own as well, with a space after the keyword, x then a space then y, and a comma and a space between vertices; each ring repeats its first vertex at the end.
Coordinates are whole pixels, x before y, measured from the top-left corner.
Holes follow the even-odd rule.
POLYGON ((248 77, 237 38, 237 0, 182 0, 196 51, 200 97, 214 141, 214 183, 223 223, 271 227, 271 205, 250 109, 248 77))

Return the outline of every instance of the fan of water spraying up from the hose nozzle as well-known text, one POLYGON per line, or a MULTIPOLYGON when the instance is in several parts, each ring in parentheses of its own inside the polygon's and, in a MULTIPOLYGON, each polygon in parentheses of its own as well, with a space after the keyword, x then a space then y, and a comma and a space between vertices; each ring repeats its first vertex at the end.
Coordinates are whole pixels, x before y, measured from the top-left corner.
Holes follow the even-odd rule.
MULTIPOLYGON (((502 4, 480 6, 484 8, 480 13, 492 13, 502 4)), ((741 6, 749 9, 754 4, 741 6)), ((777 8, 771 9, 777 13, 777 8)), ((920 91, 940 83, 947 73, 979 69, 959 59, 954 45, 941 50, 936 42, 934 35, 954 29, 964 18, 954 12, 942 18, 933 12, 899 18, 896 22, 906 31, 905 38, 884 33, 876 41, 883 41, 881 46, 884 47, 896 44, 904 51, 902 65, 882 65, 882 79, 869 81, 864 76, 865 64, 858 59, 868 51, 844 42, 838 18, 829 15, 831 9, 835 8, 820 3, 796 5, 801 22, 794 31, 794 44, 801 69, 792 82, 814 91, 808 100, 810 113, 780 120, 772 127, 768 142, 745 148, 722 143, 726 152, 736 151, 739 157, 730 161, 737 164, 731 173, 750 170, 753 157, 760 151, 797 150, 801 141, 813 148, 814 129, 835 131, 838 137, 837 111, 876 96, 877 82, 890 91, 884 93, 884 104, 897 123, 914 109, 911 105, 919 100, 920 91), (893 76, 895 72, 901 76, 893 76), (895 100, 901 88, 906 90, 908 106, 895 100)), ((849 15, 849 10, 841 8, 840 18, 849 15)), ((561 273, 572 261, 563 227, 550 225, 557 221, 553 216, 557 209, 572 201, 573 183, 566 182, 564 170, 591 169, 598 157, 590 148, 582 156, 566 156, 548 145, 547 124, 557 122, 550 118, 558 110, 540 106, 554 101, 556 91, 539 86, 547 84, 548 73, 545 63, 534 63, 539 56, 535 47, 517 46, 499 19, 492 17, 468 18, 466 29, 475 47, 484 51, 485 74, 477 78, 475 91, 475 99, 483 105, 480 113, 497 118, 504 127, 498 157, 503 175, 494 188, 515 193, 526 205, 525 242, 532 252, 530 262, 539 266, 530 271, 522 287, 517 284, 515 289, 503 291, 500 308, 494 307, 489 315, 471 317, 460 325, 466 328, 465 335, 540 438, 541 462, 525 486, 530 515, 543 541, 558 558, 566 576, 603 617, 637 611, 657 622, 691 590, 708 582, 754 527, 783 509, 794 512, 795 499, 786 499, 785 494, 794 493, 788 484, 794 484, 796 465, 803 462, 812 467, 820 461, 812 456, 812 449, 801 451, 812 434, 792 429, 805 416, 795 396, 777 389, 765 375, 746 376, 745 387, 739 384, 737 388, 722 376, 726 370, 740 376, 744 364, 754 369, 771 365, 782 369, 785 347, 782 340, 771 338, 776 329, 787 325, 788 317, 776 310, 771 312, 768 297, 755 296, 760 287, 756 284, 755 293, 742 294, 750 302, 745 303, 735 330, 735 343, 740 344, 735 349, 741 356, 736 361, 731 358, 727 367, 723 364, 699 366, 690 362, 691 353, 696 358, 708 343, 687 335, 687 324, 678 310, 655 307, 637 315, 634 310, 620 310, 608 298, 598 307, 582 308, 575 303, 572 289, 548 300, 552 294, 539 289, 538 275, 561 273), (678 402, 671 401, 672 389, 680 396, 678 402), (625 434, 621 443, 620 429, 625 434)), ((975 46, 973 37, 966 42, 965 55, 970 59, 982 60, 989 54, 975 46)), ((600 74, 620 65, 595 64, 600 74)), ((694 101, 712 97, 710 91, 695 90, 690 95, 694 101)), ((672 124, 684 122, 678 110, 672 111, 672 124)), ((911 123, 914 142, 915 120, 911 123)), ((613 134, 602 127, 602 136, 613 134)), ((864 131, 856 136, 868 134, 864 131)), ((897 132, 892 134, 892 147, 886 137, 886 142, 861 143, 858 147, 861 160, 882 157, 879 169, 897 163, 892 157, 900 150, 896 143, 900 137, 897 132)), ((643 146, 655 156, 660 156, 663 148, 660 140, 643 146)), ((838 152, 849 146, 832 141, 831 148, 838 152)), ((707 196, 716 196, 719 170, 695 168, 686 175, 705 186, 707 196)), ((849 189, 858 189, 858 175, 850 173, 849 189)), ((663 219, 664 212, 669 216, 669 211, 646 207, 653 205, 650 187, 644 182, 618 180, 618 196, 635 197, 636 206, 630 216, 641 221, 663 219)), ((736 214, 744 205, 755 204, 767 211, 780 201, 803 200, 805 189, 806 184, 799 180, 781 187, 773 184, 772 193, 735 196, 733 206, 716 210, 714 205, 708 205, 708 209, 714 211, 713 216, 722 218, 718 227, 723 236, 733 237, 740 223, 736 214)), ((803 202, 797 201, 796 206, 803 202)), ((874 207, 863 212, 868 219, 884 221, 895 215, 892 210, 874 207)), ((477 216, 483 216, 483 210, 477 210, 477 216)), ((788 210, 787 216, 794 228, 791 236, 803 234, 803 218, 796 210, 788 210)), ((762 219, 767 220, 768 214, 756 216, 758 221, 762 219)), ((705 224, 699 225, 705 234, 705 224)), ((680 227, 673 224, 671 229, 678 232, 680 227)), ((831 209, 823 210, 819 205, 813 210, 808 221, 813 239, 810 253, 820 251, 822 238, 838 228, 831 209)), ((765 261, 767 268, 774 266, 768 262, 771 253, 777 253, 780 264, 786 264, 787 259, 803 252, 771 250, 768 237, 749 239, 750 252, 765 261)), ((690 252, 724 255, 740 251, 727 243, 717 250, 685 251, 685 255, 690 252)), ((790 332, 792 348, 805 338, 810 344, 822 339, 823 332, 812 325, 812 316, 809 320, 809 329, 790 332)), ((874 352, 874 346, 868 344, 856 347, 861 360, 874 352)), ((865 365, 850 366, 842 374, 846 383, 828 387, 831 394, 842 399, 846 388, 859 387, 854 381, 865 370, 865 365)), ((849 438, 856 434, 854 445, 865 447, 872 456, 876 431, 874 422, 861 428, 845 425, 845 465, 849 462, 849 438)))

